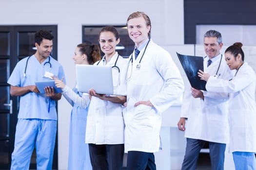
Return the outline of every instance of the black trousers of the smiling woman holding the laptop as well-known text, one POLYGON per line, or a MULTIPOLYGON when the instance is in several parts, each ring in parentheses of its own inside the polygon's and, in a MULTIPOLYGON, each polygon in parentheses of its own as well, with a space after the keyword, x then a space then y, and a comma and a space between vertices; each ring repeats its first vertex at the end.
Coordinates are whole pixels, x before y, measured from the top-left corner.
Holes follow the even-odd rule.
POLYGON ((89 143, 89 153, 93 170, 122 170, 123 168, 124 144, 89 143))

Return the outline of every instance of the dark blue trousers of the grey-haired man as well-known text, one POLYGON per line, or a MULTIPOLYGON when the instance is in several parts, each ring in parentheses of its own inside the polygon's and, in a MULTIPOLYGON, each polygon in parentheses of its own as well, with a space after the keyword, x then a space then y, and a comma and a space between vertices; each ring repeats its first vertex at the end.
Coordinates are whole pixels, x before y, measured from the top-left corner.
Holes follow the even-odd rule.
MULTIPOLYGON (((200 150, 207 141, 187 138, 186 152, 181 170, 196 170, 200 150)), ((209 142, 212 170, 224 169, 226 144, 209 142)))

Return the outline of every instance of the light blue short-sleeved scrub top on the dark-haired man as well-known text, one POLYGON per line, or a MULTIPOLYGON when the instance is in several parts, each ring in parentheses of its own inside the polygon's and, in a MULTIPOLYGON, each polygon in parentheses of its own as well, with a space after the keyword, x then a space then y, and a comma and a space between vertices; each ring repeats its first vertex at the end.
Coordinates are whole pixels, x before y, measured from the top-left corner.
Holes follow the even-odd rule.
MULTIPOLYGON (((32 55, 29 58, 28 62, 27 60, 28 57, 20 60, 20 62, 17 63, 7 82, 8 84, 23 87, 27 85, 35 85, 35 81, 50 80, 49 78, 43 77, 45 71, 53 73, 54 76, 58 76, 59 79, 63 78, 63 82, 66 83, 64 70, 62 66, 59 64, 59 62, 54 58, 50 58, 51 68, 50 64, 46 63, 49 60, 48 58, 44 60, 41 64, 39 63, 35 55, 32 55), (23 74, 25 72, 26 62, 26 77, 24 77, 23 74)), ((49 113, 48 106, 49 97, 46 97, 45 94, 34 92, 27 93, 23 96, 20 96, 20 108, 18 118, 57 120, 55 101, 50 100, 49 113)))

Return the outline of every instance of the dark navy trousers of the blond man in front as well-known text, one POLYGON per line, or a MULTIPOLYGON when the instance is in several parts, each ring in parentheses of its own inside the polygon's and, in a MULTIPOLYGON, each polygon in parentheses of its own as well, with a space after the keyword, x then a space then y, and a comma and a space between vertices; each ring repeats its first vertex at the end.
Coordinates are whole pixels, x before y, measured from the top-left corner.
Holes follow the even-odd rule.
POLYGON ((128 151, 127 170, 157 170, 154 153, 128 151))

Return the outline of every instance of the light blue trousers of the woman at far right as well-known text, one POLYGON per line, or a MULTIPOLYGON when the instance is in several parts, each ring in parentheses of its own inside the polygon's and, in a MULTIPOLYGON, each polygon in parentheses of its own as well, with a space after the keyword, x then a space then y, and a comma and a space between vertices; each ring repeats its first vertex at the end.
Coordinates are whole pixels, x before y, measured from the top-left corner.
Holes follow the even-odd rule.
POLYGON ((256 170, 255 153, 233 152, 236 170, 256 170))

